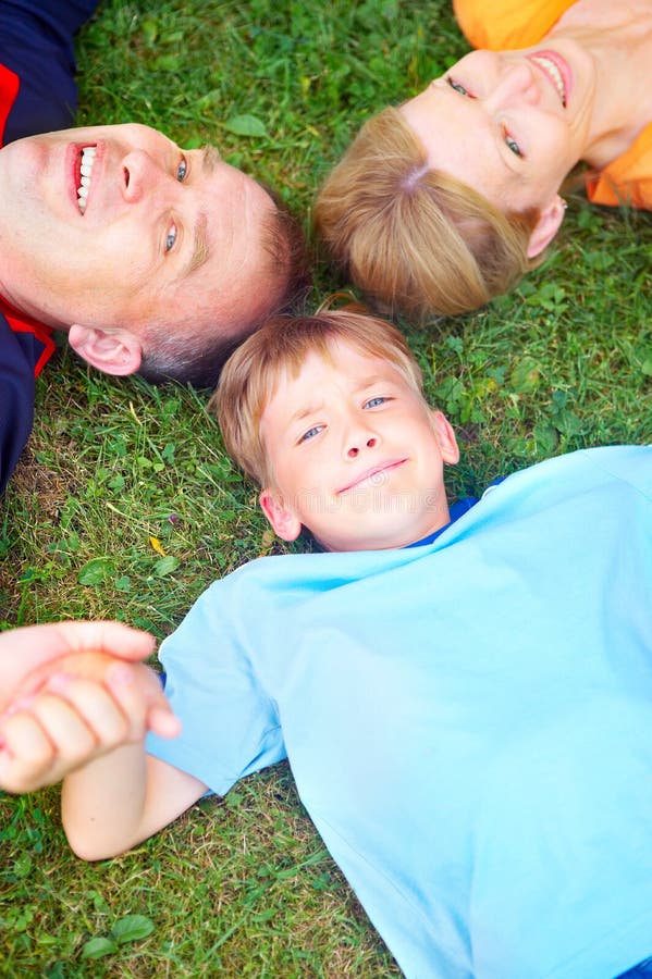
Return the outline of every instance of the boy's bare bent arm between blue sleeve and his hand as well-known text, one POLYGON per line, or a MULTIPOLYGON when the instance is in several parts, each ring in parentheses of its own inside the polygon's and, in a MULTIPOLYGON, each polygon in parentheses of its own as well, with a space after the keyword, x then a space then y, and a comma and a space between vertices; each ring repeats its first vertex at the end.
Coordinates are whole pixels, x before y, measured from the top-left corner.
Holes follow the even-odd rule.
POLYGON ((206 790, 199 779, 148 755, 140 740, 67 776, 63 828, 77 856, 104 859, 168 826, 206 790))

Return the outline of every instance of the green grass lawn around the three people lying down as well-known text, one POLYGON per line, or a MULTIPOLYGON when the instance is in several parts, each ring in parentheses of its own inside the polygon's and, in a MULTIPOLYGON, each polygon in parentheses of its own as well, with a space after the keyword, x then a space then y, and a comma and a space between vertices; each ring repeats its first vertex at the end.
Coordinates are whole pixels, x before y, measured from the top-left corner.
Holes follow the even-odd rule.
MULTIPOLYGON (((358 124, 465 50, 441 0, 106 0, 78 38, 78 121, 213 141, 307 213, 358 124), (233 132, 243 115, 261 135, 233 132)), ((514 295, 407 331, 460 434, 452 497, 554 453, 652 436, 651 215, 578 194, 566 227, 514 295)), ((339 285, 324 267, 318 282, 311 302, 339 285)), ((0 625, 108 616, 162 637, 217 575, 287 549, 205 401, 101 377, 62 349, 0 510, 0 625)), ((58 808, 56 789, 0 798, 2 976, 398 975, 286 766, 94 866, 71 856, 58 808), (82 958, 128 915, 153 930, 82 958)))

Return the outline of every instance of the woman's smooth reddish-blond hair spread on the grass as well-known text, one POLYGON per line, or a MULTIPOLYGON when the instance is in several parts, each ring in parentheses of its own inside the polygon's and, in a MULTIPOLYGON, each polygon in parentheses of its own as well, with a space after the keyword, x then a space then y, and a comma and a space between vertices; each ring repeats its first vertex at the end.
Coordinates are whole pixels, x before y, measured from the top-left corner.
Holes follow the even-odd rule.
POLYGON ((537 210, 503 214, 431 170, 397 109, 360 129, 323 184, 315 226, 332 257, 385 312, 456 315, 507 292, 533 263, 537 210))

